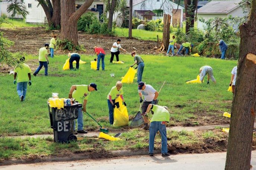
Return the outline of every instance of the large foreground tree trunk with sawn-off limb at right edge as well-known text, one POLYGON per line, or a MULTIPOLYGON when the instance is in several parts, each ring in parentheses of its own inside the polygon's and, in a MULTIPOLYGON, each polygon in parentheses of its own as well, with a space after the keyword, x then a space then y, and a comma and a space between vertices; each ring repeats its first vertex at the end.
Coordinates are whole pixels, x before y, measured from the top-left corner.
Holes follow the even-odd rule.
POLYGON ((239 27, 240 54, 225 170, 249 170, 256 109, 256 0, 249 21, 239 27))

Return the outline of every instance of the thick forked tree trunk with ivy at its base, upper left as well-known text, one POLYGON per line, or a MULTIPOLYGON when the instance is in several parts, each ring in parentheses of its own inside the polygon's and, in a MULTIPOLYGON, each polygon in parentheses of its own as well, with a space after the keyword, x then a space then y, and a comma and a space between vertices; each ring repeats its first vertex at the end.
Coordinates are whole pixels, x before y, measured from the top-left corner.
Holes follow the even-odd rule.
POLYGON ((61 0, 61 40, 71 41, 74 46, 78 46, 77 21, 91 6, 93 0, 86 0, 76 11, 74 0, 61 0), (75 12, 76 11, 76 12, 75 12))

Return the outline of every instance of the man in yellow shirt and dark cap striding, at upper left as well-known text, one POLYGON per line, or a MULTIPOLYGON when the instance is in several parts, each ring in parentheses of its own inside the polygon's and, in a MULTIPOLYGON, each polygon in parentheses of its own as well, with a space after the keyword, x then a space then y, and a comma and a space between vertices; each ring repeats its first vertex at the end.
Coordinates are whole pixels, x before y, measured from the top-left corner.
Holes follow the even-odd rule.
POLYGON ((48 64, 49 64, 49 60, 48 60, 48 53, 47 53, 47 49, 49 47, 49 44, 44 44, 44 47, 42 47, 39 50, 39 66, 36 69, 35 73, 33 73, 34 76, 36 76, 36 74, 38 74, 38 72, 42 69, 42 67, 44 66, 44 75, 48 76, 48 64))

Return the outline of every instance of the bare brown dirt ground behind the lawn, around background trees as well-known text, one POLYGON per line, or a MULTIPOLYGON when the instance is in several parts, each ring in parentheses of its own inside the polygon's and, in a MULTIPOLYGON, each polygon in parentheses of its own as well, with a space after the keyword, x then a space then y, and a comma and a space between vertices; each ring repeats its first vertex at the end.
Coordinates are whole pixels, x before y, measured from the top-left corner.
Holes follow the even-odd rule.
MULTIPOLYGON (((3 31, 4 37, 11 41, 14 41, 14 46, 9 50, 13 53, 24 52, 37 56, 38 50, 44 46, 45 43, 49 43, 52 34, 57 34, 60 37, 60 31, 45 30, 44 27, 25 27, 18 29, 0 29, 3 31)), ((90 35, 85 33, 78 33, 78 40, 80 45, 84 45, 85 52, 79 51, 81 54, 94 54, 93 46, 102 47, 107 54, 110 54, 110 49, 113 43, 121 39, 122 48, 131 52, 136 50, 139 54, 159 54, 154 47, 157 45, 156 41, 144 41, 137 39, 128 39, 125 37, 114 36, 102 36, 102 35, 90 35)), ((55 54, 67 54, 68 51, 58 50, 54 51, 55 54)), ((121 51, 121 55, 124 52, 121 51)))

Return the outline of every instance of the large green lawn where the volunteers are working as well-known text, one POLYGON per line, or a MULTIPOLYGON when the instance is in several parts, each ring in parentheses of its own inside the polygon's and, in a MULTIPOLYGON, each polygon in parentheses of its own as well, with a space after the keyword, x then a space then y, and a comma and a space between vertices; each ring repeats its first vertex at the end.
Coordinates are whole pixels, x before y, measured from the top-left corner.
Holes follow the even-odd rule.
MULTIPOLYGON (((143 81, 159 90, 166 80, 159 95, 159 104, 169 107, 171 122, 169 125, 180 123, 203 124, 202 119, 224 120, 221 114, 230 111, 232 93, 227 91, 230 81, 230 71, 237 61, 195 58, 195 57, 166 57, 141 55, 145 61, 143 81), (186 84, 196 78, 199 68, 204 65, 212 66, 217 84, 186 84)), ((13 84, 13 75, 1 74, 0 88, 0 134, 2 136, 24 134, 52 133, 49 122, 47 100, 52 92, 59 97, 68 97, 70 87, 74 84, 97 83, 98 91, 93 91, 87 103, 87 111, 97 118, 104 126, 108 123, 108 105, 106 96, 116 81, 128 71, 133 63, 130 55, 121 55, 120 60, 125 64, 110 64, 109 55, 105 58, 106 71, 90 69, 90 61, 94 56, 81 55, 86 64, 81 64, 78 71, 63 71, 62 66, 67 56, 55 56, 49 59, 48 77, 43 76, 42 69, 37 77, 32 77, 32 86, 28 86, 26 101, 21 103, 13 84), (110 74, 115 73, 115 77, 110 74)), ((27 62, 35 71, 38 65, 37 56, 28 56, 27 62), (33 60, 32 60, 33 59, 33 60)), ((124 84, 124 98, 128 113, 135 116, 139 110, 137 84, 124 84)), ((220 122, 221 123, 221 122, 220 122)), ((208 122, 207 122, 208 124, 208 122)), ((97 124, 84 115, 85 129, 97 129, 97 124)))

